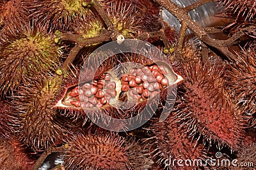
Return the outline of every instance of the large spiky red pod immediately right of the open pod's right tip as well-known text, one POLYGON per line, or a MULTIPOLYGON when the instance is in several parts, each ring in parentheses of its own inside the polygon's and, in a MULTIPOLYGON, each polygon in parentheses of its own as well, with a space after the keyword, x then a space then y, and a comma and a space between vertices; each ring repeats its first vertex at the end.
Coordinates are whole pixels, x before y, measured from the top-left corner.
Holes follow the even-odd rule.
POLYGON ((184 64, 185 81, 180 86, 173 112, 190 136, 199 137, 219 149, 236 150, 242 128, 236 120, 236 109, 224 89, 225 67, 219 65, 184 64))

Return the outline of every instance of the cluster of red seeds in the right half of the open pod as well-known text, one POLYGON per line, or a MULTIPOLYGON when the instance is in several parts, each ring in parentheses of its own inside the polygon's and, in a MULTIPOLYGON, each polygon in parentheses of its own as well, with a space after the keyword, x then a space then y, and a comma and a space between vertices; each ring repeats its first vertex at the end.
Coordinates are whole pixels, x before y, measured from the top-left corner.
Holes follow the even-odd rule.
POLYGON ((159 90, 168 86, 167 71, 164 66, 145 66, 143 68, 132 68, 129 74, 122 75, 122 92, 128 91, 128 96, 136 100, 145 100, 156 96, 159 90))

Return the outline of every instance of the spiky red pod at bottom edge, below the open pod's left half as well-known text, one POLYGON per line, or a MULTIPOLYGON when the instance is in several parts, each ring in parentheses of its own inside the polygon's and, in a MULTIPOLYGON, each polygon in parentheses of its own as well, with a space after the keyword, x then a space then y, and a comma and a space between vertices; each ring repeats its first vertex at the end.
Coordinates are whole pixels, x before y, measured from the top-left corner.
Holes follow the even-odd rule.
POLYGON ((112 132, 78 134, 67 143, 67 169, 147 169, 153 163, 138 143, 112 132))

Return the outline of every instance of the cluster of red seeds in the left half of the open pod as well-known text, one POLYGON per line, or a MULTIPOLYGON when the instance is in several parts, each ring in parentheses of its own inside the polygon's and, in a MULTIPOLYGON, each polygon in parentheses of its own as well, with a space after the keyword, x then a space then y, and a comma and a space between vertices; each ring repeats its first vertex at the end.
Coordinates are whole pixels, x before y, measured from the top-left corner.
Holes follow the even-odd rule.
POLYGON ((105 74, 99 81, 84 83, 81 87, 76 87, 69 96, 76 100, 70 101, 74 106, 82 108, 102 107, 116 96, 116 83, 111 81, 109 74, 105 74))

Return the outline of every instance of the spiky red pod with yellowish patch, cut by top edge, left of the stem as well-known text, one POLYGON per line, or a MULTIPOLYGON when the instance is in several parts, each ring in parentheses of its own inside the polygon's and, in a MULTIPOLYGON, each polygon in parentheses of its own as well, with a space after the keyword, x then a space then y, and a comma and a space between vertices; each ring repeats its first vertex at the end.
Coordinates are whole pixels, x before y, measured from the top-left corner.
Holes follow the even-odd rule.
POLYGON ((88 22, 88 18, 94 15, 81 0, 44 0, 28 1, 28 9, 31 11, 29 18, 37 20, 40 24, 49 24, 51 31, 73 31, 77 22, 88 22))

